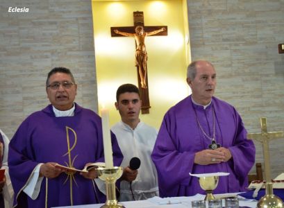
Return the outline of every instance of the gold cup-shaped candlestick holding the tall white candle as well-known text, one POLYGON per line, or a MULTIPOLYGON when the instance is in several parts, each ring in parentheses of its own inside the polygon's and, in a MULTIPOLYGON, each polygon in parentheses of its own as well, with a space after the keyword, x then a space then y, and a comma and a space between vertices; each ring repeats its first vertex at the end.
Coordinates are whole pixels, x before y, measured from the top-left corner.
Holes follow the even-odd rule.
POLYGON ((122 167, 113 168, 97 168, 98 176, 106 184, 106 203, 101 206, 103 208, 118 208, 124 207, 117 202, 115 194, 115 182, 122 176, 122 167))

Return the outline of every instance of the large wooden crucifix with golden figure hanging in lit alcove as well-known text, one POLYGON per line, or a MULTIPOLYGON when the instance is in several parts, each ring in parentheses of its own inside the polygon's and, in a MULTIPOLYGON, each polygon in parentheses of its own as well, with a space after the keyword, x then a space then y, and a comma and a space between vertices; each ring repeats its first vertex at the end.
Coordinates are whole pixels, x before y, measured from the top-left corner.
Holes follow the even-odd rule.
POLYGON ((134 26, 111 27, 112 37, 135 37, 135 66, 137 67, 138 86, 142 99, 142 114, 149 114, 149 85, 147 73, 147 51, 144 44, 146 36, 167 35, 167 26, 144 26, 143 12, 133 12, 134 26))

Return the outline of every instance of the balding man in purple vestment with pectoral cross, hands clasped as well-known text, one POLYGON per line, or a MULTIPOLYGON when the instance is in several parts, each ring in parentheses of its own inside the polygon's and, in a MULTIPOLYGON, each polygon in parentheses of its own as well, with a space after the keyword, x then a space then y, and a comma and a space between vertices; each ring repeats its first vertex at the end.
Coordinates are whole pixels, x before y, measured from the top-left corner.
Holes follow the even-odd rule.
POLYGON ((245 191, 256 150, 240 114, 213 96, 217 81, 210 62, 192 62, 187 83, 192 95, 165 114, 151 155, 160 196, 205 194, 198 177, 189 173, 227 172, 213 193, 245 191))

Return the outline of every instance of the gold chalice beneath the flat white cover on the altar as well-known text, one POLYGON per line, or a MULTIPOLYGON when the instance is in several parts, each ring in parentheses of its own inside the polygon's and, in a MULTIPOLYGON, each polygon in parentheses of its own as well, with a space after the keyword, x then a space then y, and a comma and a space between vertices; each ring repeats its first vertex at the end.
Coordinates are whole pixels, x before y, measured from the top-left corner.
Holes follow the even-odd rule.
POLYGON ((204 200, 213 200, 215 197, 212 194, 212 191, 216 189, 219 182, 219 176, 206 176, 199 177, 199 184, 201 189, 206 191, 206 197, 204 200))

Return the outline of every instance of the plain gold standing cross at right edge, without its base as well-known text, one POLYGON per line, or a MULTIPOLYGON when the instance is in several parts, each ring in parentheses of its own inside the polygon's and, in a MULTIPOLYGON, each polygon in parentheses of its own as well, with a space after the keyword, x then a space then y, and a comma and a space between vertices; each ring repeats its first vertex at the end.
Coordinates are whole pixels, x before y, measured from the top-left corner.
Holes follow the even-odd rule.
POLYGON ((261 133, 250 133, 247 135, 249 139, 256 139, 262 143, 263 157, 265 160, 265 180, 266 182, 272 182, 270 175, 270 162, 269 162, 269 140, 283 137, 283 131, 279 132, 267 132, 266 118, 260 118, 261 133))

